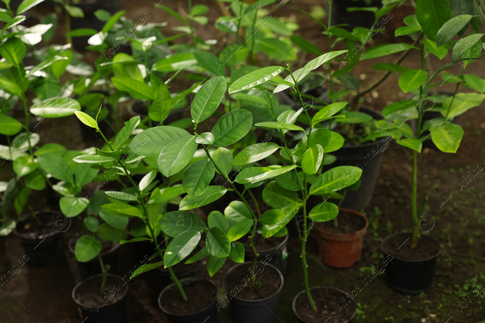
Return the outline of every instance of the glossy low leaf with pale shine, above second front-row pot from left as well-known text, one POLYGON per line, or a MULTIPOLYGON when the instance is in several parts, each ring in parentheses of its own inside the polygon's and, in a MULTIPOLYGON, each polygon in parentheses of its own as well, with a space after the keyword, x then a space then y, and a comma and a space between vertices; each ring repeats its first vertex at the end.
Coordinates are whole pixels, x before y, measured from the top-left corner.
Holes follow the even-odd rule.
POLYGON ((163 255, 163 266, 167 268, 184 260, 194 251, 199 241, 199 231, 188 230, 180 233, 167 246, 165 254, 163 255))

